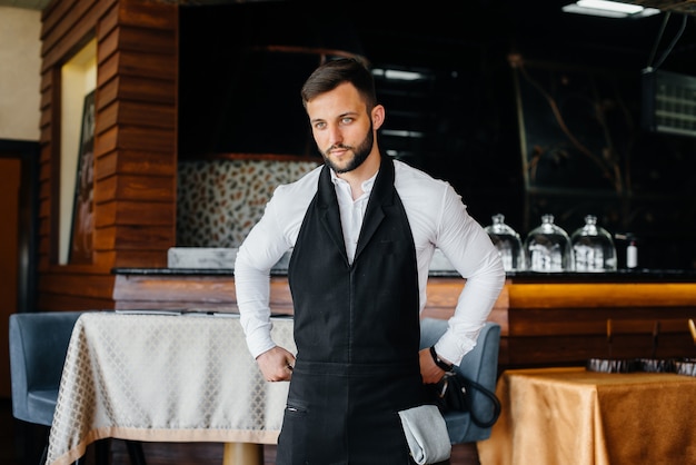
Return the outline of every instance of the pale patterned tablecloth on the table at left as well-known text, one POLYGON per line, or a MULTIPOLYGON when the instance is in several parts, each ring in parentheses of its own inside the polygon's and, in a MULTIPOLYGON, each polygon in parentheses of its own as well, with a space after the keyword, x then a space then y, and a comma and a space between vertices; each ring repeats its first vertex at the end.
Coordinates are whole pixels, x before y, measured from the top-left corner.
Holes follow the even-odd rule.
MULTIPOLYGON (((272 321, 275 340, 295 350, 292 320, 272 321)), ((288 386, 264 380, 238 318, 87 313, 70 339, 47 463, 70 464, 108 437, 274 444, 288 386)))

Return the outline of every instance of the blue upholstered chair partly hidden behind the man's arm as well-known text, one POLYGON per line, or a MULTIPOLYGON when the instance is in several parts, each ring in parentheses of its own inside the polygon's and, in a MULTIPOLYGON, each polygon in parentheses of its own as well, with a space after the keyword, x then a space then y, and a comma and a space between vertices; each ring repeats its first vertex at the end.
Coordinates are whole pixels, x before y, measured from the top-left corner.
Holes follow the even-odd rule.
MULTIPOLYGON (((447 320, 424 318, 420 321, 420 347, 430 347, 447 330, 447 320)), ((496 390, 498 378, 498 350, 500 325, 488 321, 478 335, 476 347, 464 356, 456 368, 469 379, 496 390)), ((479 418, 491 418, 493 405, 483 394, 474 390, 473 407, 479 418)), ((490 437, 491 427, 483 428, 471 422, 468 413, 449 412, 445 415, 451 444, 474 443, 490 437)))

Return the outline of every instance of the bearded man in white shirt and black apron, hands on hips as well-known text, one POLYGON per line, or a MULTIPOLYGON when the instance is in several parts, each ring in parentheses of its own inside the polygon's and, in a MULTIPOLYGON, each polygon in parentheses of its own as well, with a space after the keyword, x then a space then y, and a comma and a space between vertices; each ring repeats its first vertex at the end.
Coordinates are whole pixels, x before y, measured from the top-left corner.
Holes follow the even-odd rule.
POLYGON ((235 264, 249 350, 267 380, 290 380, 277 464, 410 464, 398 412, 473 348, 505 271, 449 184, 382 155, 364 65, 328 61, 301 97, 325 164, 276 189, 235 264), (431 353, 419 315, 436 247, 466 286, 431 353), (270 336, 269 271, 289 249, 297 358, 270 336))

